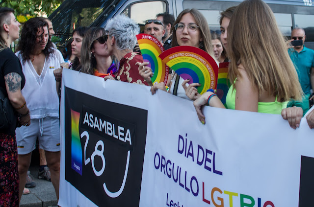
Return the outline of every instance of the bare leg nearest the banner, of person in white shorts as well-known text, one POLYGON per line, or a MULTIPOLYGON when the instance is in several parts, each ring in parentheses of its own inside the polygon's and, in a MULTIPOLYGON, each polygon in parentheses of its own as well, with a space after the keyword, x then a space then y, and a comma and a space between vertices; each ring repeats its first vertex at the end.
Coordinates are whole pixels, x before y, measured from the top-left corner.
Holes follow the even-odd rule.
POLYGON ((59 152, 49 152, 45 151, 46 160, 51 173, 51 182, 59 201, 59 181, 60 181, 60 151, 59 152))

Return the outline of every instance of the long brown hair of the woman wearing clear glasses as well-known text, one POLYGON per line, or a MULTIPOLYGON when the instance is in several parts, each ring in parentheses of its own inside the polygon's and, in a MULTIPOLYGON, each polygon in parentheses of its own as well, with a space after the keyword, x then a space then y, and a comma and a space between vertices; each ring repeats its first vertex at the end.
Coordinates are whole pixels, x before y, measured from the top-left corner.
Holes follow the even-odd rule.
POLYGON ((175 23, 173 23, 172 27, 171 27, 171 31, 170 33, 172 33, 172 46, 179 46, 178 41, 177 41, 177 34, 175 31, 175 25, 177 23, 179 23, 183 17, 183 15, 190 13, 195 21, 196 24, 199 26, 200 31, 201 31, 201 37, 203 38, 203 47, 201 49, 203 49, 204 51, 206 51, 207 53, 209 53, 209 55, 211 57, 214 58, 213 55, 213 50, 212 50, 212 45, 211 45, 211 35, 210 35, 210 31, 209 31, 209 25, 204 17, 204 15, 199 12, 197 9, 184 9, 179 16, 177 17, 177 20, 175 21, 175 23))

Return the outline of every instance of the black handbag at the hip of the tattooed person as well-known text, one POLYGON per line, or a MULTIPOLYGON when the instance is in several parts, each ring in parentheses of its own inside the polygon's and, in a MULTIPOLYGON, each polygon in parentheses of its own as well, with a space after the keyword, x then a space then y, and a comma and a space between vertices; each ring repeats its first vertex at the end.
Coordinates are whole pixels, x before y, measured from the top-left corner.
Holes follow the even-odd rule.
POLYGON ((15 110, 8 97, 0 90, 0 129, 8 128, 17 122, 15 110))

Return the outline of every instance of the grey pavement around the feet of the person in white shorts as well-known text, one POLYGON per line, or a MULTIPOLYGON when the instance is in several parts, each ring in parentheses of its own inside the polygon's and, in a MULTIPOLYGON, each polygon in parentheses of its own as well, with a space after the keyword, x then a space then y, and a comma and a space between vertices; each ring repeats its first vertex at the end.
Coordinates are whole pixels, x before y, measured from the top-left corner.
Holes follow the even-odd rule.
MULTIPOLYGON (((34 152, 36 150, 34 150, 34 152)), ((34 178, 36 187, 28 188, 30 193, 22 195, 20 207, 57 207, 57 197, 52 183, 37 178, 39 170, 39 156, 34 152, 29 170, 30 175, 34 178)))

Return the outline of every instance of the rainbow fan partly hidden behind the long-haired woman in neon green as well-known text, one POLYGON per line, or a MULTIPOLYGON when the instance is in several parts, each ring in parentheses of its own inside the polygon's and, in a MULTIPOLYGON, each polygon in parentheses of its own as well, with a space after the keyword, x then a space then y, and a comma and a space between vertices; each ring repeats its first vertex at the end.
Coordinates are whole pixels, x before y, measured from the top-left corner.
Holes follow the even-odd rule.
POLYGON ((230 81, 228 78, 228 66, 229 62, 219 64, 217 81, 217 96, 220 98, 225 107, 227 107, 226 96, 230 87, 230 81))

